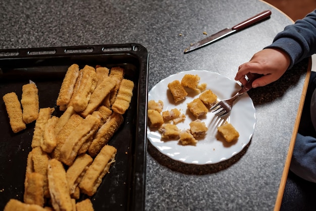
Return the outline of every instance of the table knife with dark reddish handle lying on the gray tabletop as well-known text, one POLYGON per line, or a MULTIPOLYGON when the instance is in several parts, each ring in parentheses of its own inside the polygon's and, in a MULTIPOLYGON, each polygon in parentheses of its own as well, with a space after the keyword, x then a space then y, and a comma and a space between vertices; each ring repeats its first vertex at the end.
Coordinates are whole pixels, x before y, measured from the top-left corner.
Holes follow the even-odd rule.
POLYGON ((189 53, 191 51, 194 51, 196 49, 199 49, 199 48, 202 48, 204 46, 207 46, 211 43, 214 43, 215 41, 219 40, 219 39, 222 39, 232 33, 235 33, 237 31, 240 31, 248 26, 251 26, 261 20, 264 20, 266 18, 269 18, 271 15, 271 11, 270 10, 266 10, 264 12, 261 12, 235 26, 233 26, 232 28, 226 28, 226 29, 223 29, 222 31, 219 31, 213 35, 210 35, 200 41, 198 41, 197 43, 195 44, 192 44, 190 45, 188 48, 186 48, 184 50, 184 53, 189 53))

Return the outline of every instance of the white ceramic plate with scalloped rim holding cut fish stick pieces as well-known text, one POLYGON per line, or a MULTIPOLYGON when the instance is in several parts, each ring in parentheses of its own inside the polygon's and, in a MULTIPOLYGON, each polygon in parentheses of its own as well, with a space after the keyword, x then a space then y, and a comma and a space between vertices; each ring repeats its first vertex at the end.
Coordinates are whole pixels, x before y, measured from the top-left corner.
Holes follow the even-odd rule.
MULTIPOLYGON (((168 90, 168 83, 173 80, 181 81, 185 74, 197 74, 200 77, 199 84, 206 83, 206 89, 214 92, 218 96, 218 100, 228 99, 240 89, 238 83, 228 77, 205 70, 179 72, 161 80, 150 90, 148 101, 155 100, 157 102, 162 100, 164 102, 163 111, 178 108, 181 113, 184 113, 186 115, 185 121, 177 124, 180 130, 189 129, 189 123, 195 120, 195 117, 187 109, 187 103, 197 98, 199 94, 189 92, 184 101, 175 104, 168 90)), ((147 137, 155 148, 174 160, 199 165, 218 163, 236 155, 249 143, 256 122, 253 102, 248 94, 245 93, 235 101, 233 109, 228 116, 219 118, 209 111, 201 121, 205 122, 208 130, 206 136, 198 139, 195 146, 183 146, 178 144, 177 140, 162 140, 160 132, 149 127, 147 128, 147 137), (218 134, 217 127, 224 121, 231 123, 239 132, 238 140, 227 143, 218 134)))

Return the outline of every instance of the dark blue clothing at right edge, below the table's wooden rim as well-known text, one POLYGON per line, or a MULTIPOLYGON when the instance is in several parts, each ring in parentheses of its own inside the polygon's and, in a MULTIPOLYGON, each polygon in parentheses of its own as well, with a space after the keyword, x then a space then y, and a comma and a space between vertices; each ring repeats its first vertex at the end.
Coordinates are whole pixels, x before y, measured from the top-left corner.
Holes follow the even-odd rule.
POLYGON ((297 134, 290 170, 304 180, 316 183, 316 138, 297 134))

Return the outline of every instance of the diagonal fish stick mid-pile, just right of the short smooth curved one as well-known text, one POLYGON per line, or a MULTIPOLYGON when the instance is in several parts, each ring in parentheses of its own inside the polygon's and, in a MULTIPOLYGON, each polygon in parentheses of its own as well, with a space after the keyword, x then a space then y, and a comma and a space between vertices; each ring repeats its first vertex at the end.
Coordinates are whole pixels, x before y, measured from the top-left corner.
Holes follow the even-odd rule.
POLYGON ((83 118, 79 114, 74 113, 73 115, 71 115, 70 119, 67 121, 63 129, 60 131, 60 133, 56 137, 56 147, 50 153, 50 156, 52 158, 56 158, 60 160, 62 146, 64 145, 65 141, 67 140, 71 132, 75 130, 75 128, 82 121, 83 121, 83 118))

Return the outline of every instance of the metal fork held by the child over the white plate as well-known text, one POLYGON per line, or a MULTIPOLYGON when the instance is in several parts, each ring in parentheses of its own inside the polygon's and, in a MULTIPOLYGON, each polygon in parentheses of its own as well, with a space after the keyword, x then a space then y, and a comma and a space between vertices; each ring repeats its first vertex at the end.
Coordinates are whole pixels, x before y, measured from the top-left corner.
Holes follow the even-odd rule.
POLYGON ((226 116, 233 108, 234 101, 239 98, 242 94, 248 92, 252 88, 252 82, 262 75, 259 74, 252 74, 252 77, 245 86, 243 86, 232 98, 221 100, 220 102, 216 103, 210 110, 212 112, 216 112, 216 116, 223 117, 226 116))

